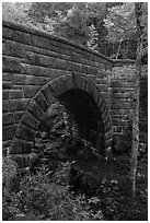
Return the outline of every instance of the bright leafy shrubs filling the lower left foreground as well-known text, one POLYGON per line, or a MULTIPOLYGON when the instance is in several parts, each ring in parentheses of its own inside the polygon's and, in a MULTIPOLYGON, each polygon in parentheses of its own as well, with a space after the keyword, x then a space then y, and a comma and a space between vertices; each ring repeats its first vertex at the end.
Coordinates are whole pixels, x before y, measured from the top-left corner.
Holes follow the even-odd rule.
POLYGON ((89 203, 94 201, 81 195, 74 197, 62 183, 69 168, 70 163, 61 164, 54 177, 45 167, 36 175, 25 175, 20 190, 11 192, 11 202, 3 200, 3 220, 102 220, 100 211, 94 214, 90 209, 89 203))

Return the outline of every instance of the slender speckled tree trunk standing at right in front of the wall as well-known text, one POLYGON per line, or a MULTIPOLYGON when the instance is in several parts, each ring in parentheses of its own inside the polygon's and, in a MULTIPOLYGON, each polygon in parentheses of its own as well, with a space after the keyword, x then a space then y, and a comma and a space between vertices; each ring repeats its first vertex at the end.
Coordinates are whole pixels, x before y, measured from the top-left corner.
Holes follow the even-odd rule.
POLYGON ((142 3, 135 3, 136 21, 137 21, 137 51, 136 51, 136 72, 135 72, 135 89, 134 89, 134 105, 132 105, 132 148, 130 157, 130 181, 131 193, 136 196, 136 172, 137 172, 137 155, 139 148, 139 94, 140 94, 140 74, 141 74, 141 56, 142 56, 142 3))

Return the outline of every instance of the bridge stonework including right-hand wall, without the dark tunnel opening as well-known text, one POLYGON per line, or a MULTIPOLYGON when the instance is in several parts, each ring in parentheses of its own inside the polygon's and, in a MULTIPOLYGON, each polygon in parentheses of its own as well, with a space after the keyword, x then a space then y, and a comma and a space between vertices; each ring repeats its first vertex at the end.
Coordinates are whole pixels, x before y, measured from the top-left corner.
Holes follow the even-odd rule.
MULTIPOLYGON (((16 141, 16 137, 21 137, 22 120, 25 117, 30 120, 26 110, 32 101, 36 98, 45 109, 43 106, 51 97, 71 89, 80 89, 92 96, 104 122, 105 146, 111 146, 112 128, 114 133, 123 133, 129 121, 134 61, 114 61, 64 38, 9 22, 3 22, 2 28, 4 148, 10 148, 13 140, 18 149, 25 150, 24 141, 16 141), (47 85, 51 85, 50 90, 47 85)), ((41 108, 35 113, 43 114, 41 108)), ((28 133, 25 143, 31 148, 30 137, 34 133, 30 134, 31 130, 23 128, 25 131, 28 133)))

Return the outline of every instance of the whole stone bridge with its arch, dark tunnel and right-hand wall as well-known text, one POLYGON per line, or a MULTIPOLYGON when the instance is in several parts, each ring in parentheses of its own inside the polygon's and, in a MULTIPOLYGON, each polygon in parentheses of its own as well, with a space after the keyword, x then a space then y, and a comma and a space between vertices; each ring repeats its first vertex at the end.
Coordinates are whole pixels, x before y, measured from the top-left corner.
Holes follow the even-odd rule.
POLYGON ((112 136, 123 133, 129 121, 134 61, 114 61, 5 21, 2 37, 3 151, 27 165, 35 133, 55 98, 65 104, 80 138, 99 153, 109 149, 112 136))

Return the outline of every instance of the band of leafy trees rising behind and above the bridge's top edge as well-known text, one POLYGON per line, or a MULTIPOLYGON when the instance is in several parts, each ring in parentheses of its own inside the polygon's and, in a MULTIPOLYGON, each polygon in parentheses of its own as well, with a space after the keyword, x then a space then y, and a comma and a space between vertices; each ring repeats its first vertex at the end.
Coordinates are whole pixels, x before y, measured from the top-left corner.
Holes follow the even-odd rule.
MULTIPOLYGON (((148 46, 147 15, 147 3, 143 3, 145 55, 148 46)), ((131 2, 3 2, 2 16, 10 22, 62 36, 107 57, 136 58, 136 19, 131 2)))

